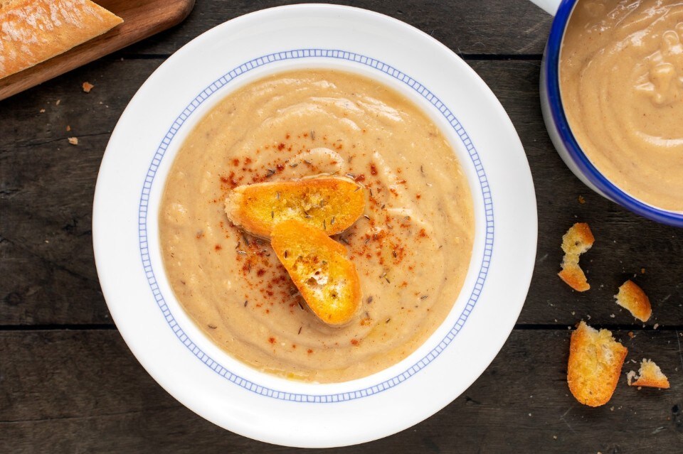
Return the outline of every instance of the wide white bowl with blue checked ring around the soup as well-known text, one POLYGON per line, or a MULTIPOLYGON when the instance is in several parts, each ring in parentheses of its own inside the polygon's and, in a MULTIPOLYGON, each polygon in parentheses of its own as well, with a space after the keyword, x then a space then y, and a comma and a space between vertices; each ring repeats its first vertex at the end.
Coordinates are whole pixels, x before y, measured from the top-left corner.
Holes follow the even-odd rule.
POLYGON ((321 5, 236 18, 161 65, 112 134, 97 179, 92 225, 102 291, 117 328, 149 374, 218 426, 305 447, 388 436, 465 391, 517 320, 537 234, 524 150, 480 77, 448 48, 405 23, 321 5), (359 72, 413 99, 451 142, 474 198, 472 262, 448 318, 406 360, 351 382, 294 382, 234 360, 179 306, 159 249, 159 200, 184 137, 228 92, 294 67, 359 72))

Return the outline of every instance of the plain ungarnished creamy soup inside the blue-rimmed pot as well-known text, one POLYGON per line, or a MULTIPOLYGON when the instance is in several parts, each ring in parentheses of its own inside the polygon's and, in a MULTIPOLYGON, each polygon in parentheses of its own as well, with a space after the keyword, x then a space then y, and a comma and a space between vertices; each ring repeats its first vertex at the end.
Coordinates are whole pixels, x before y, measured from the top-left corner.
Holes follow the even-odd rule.
POLYGON ((683 212, 683 1, 580 0, 560 59, 586 156, 635 198, 683 212))

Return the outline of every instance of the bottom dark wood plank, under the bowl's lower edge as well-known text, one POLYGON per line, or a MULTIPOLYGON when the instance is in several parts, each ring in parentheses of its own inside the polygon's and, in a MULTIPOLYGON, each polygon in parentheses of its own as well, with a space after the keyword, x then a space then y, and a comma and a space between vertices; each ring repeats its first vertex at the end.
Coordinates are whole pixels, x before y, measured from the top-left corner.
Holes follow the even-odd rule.
MULTIPOLYGON (((435 416, 396 436, 327 452, 519 453, 535 446, 543 453, 678 453, 683 333, 615 335, 630 349, 627 361, 652 357, 672 389, 639 391, 622 374, 607 405, 582 406, 566 385, 569 332, 516 330, 482 377, 435 416)), ((224 431, 185 409, 144 372, 116 331, 3 332, 0 352, 6 452, 295 452, 224 431)))

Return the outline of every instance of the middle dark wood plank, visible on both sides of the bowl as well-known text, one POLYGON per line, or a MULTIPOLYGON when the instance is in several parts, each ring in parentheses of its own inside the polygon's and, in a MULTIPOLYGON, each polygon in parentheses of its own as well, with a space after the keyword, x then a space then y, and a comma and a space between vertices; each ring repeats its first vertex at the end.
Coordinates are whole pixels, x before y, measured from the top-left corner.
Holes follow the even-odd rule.
MULTIPOLYGON (((92 259, 92 195, 110 131, 160 63, 110 57, 0 102, 0 236, 13 244, 0 244, 7 276, 0 281, 0 325, 110 323, 92 259), (80 90, 85 80, 95 84, 89 94, 80 90), (78 146, 68 136, 80 137, 78 146)), ((683 325, 683 235, 592 193, 568 171, 541 119, 537 61, 470 64, 517 127, 536 185, 539 247, 519 323, 573 325, 590 315, 595 323, 637 328, 612 298, 637 274, 654 308, 648 325, 683 325), (589 222, 596 237, 582 259, 593 285, 586 293, 556 276, 561 236, 576 221, 589 222)))

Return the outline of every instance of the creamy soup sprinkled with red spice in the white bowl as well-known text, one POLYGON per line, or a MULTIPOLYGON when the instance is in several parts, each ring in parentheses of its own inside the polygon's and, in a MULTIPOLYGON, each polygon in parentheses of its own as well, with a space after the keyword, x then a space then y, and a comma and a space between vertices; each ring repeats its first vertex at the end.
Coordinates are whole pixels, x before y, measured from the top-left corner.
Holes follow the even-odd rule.
POLYGON ((253 367, 314 382, 364 377, 423 344, 455 303, 474 235, 467 180, 433 122, 381 83, 332 70, 273 75, 213 107, 175 158, 159 226, 199 328, 253 367), (236 185, 322 174, 366 193, 365 215, 334 237, 363 294, 341 328, 308 310, 268 239, 223 211, 236 185))

